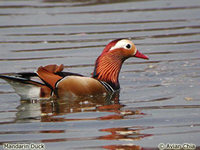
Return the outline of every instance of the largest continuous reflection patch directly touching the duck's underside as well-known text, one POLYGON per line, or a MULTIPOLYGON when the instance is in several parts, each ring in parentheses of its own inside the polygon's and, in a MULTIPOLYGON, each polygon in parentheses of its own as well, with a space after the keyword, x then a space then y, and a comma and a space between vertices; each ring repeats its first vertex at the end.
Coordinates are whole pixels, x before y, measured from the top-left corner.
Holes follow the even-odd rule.
MULTIPOLYGON (((90 120, 123 119, 128 115, 140 114, 137 110, 121 110, 124 105, 119 102, 119 92, 109 96, 82 97, 74 100, 21 100, 20 102, 17 107, 16 122, 71 121, 73 119, 68 119, 64 115, 75 112, 113 112, 112 115, 90 118, 90 120)), ((80 120, 84 119, 86 118, 80 118, 80 120)))

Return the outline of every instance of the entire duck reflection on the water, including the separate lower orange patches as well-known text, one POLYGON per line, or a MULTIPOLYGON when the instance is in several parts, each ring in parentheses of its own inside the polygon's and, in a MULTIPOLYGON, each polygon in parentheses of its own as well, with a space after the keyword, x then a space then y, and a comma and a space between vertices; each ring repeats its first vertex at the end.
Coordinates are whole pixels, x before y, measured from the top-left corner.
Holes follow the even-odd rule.
MULTIPOLYGON (((73 100, 66 99, 52 99, 52 100, 38 100, 27 101, 21 100, 20 106, 17 107, 16 122, 66 122, 66 121, 79 121, 79 120, 116 120, 125 119, 130 116, 131 118, 143 116, 144 114, 139 110, 123 110, 124 105, 119 102, 119 91, 106 96, 98 97, 82 97, 73 100), (112 112, 112 115, 105 115, 93 118, 68 118, 67 114, 77 112, 112 112)), ((109 113, 110 114, 110 113, 109 113)), ((118 128, 102 128, 100 132, 107 132, 108 134, 95 137, 99 140, 128 140, 135 141, 142 138, 151 136, 150 134, 140 133, 152 127, 132 126, 132 127, 118 127, 118 128)), ((41 133, 57 133, 57 130, 40 131, 41 133)), ((65 131, 59 131, 65 132, 65 131)), ((62 139, 45 139, 42 143, 46 142, 64 142, 69 138, 62 139)), ((141 149, 137 145, 105 145, 104 149, 141 149)))

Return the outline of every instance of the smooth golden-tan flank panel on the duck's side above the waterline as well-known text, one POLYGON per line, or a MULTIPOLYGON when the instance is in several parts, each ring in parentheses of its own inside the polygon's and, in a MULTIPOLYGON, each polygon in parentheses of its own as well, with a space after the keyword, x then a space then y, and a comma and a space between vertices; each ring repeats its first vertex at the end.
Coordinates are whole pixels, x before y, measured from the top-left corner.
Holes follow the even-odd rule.
POLYGON ((65 77, 57 83, 56 88, 59 98, 91 96, 107 92, 105 87, 98 80, 80 76, 65 77))

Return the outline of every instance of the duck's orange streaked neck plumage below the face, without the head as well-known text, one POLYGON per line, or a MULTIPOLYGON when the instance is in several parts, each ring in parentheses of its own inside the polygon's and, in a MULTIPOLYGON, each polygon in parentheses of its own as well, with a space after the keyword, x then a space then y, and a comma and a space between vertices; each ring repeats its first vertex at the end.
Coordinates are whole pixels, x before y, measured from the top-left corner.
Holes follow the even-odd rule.
POLYGON ((124 59, 120 55, 107 54, 101 55, 96 60, 93 78, 104 81, 117 90, 119 85, 119 72, 124 59))

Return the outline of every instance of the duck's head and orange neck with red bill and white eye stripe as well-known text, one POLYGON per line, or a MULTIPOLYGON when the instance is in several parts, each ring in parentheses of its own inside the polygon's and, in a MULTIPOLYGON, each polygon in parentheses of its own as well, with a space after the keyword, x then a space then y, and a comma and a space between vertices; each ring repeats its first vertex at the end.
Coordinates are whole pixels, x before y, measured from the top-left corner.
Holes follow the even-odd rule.
POLYGON ((148 59, 128 39, 111 41, 96 60, 93 78, 109 83, 115 90, 119 89, 121 66, 130 57, 148 59))

